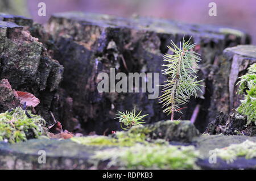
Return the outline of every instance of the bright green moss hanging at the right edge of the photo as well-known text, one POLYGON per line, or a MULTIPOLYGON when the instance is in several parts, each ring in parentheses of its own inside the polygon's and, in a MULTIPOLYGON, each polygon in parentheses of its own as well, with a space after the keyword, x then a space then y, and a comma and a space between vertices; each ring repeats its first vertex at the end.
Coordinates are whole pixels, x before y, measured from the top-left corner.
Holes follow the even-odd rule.
POLYGON ((239 78, 237 93, 244 96, 237 112, 247 116, 247 125, 256 123, 256 64, 249 67, 248 73, 239 78))

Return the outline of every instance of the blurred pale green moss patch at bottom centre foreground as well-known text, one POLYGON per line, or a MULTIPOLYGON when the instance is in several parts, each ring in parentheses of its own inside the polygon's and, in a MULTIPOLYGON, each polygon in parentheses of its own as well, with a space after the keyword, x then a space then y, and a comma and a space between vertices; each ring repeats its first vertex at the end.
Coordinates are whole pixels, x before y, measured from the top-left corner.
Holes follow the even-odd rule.
POLYGON ((142 145, 96 151, 94 159, 110 160, 122 169, 198 169, 194 146, 142 145))

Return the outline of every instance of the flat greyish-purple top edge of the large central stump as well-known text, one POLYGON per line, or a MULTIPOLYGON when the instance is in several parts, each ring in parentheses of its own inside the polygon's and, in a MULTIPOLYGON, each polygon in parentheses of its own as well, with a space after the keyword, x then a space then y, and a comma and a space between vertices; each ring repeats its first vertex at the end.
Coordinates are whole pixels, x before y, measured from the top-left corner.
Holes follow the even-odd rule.
POLYGON ((71 22, 92 24, 100 27, 133 28, 135 30, 153 31, 163 34, 187 34, 220 40, 225 39, 226 35, 235 35, 238 37, 247 36, 246 32, 228 27, 183 23, 170 19, 150 17, 122 18, 114 15, 71 11, 53 14, 49 23, 51 23, 53 19, 66 19, 71 22))

